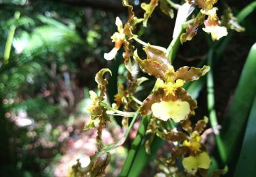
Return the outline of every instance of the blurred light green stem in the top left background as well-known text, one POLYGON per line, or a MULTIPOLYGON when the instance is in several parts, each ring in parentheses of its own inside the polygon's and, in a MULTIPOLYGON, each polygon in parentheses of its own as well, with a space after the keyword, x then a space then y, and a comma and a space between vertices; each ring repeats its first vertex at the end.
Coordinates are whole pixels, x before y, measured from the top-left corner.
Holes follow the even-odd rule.
MULTIPOLYGON (((15 12, 14 19, 18 20, 18 18, 20 18, 20 12, 15 12)), ((16 30, 16 27, 14 25, 12 25, 10 27, 10 31, 8 33, 8 38, 5 43, 5 50, 3 53, 3 63, 5 65, 9 63, 10 53, 11 53, 11 49, 12 49, 12 40, 14 39, 15 30, 16 30)))

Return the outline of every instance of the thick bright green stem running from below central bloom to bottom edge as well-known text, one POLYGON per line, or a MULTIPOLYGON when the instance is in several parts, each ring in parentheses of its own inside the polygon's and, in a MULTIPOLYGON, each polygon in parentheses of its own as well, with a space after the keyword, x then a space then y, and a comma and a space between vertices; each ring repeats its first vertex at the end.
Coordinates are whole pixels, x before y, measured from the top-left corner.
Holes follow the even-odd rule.
POLYGON ((128 176, 130 172, 130 168, 132 167, 132 163, 134 162, 134 159, 137 155, 139 147, 141 146, 141 142, 143 140, 145 132, 147 131, 147 125, 150 122, 150 118, 151 118, 151 115, 146 116, 141 120, 141 124, 139 125, 137 135, 132 142, 132 148, 129 150, 128 156, 126 158, 126 161, 124 162, 124 166, 119 176, 128 176))

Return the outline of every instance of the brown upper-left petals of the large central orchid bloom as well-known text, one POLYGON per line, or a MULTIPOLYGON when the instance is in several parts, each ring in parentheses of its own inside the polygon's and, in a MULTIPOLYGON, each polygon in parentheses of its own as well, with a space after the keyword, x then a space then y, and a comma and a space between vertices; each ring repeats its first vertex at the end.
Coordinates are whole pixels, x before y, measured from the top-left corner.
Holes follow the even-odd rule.
POLYGON ((143 50, 147 54, 147 59, 140 59, 137 51, 134 51, 134 60, 139 63, 141 69, 147 72, 147 74, 165 80, 165 73, 171 67, 171 63, 168 57, 166 57, 165 52, 154 48, 150 44, 143 48, 143 50))

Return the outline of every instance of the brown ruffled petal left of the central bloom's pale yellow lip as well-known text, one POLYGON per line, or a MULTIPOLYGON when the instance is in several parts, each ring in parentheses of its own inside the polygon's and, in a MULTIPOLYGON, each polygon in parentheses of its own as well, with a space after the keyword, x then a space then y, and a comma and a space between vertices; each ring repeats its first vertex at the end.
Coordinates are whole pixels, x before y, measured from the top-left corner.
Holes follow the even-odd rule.
POLYGON ((142 103, 141 106, 141 116, 147 116, 152 113, 151 106, 152 104, 161 101, 164 96, 164 91, 162 88, 158 88, 158 90, 154 91, 153 94, 149 95, 142 103))

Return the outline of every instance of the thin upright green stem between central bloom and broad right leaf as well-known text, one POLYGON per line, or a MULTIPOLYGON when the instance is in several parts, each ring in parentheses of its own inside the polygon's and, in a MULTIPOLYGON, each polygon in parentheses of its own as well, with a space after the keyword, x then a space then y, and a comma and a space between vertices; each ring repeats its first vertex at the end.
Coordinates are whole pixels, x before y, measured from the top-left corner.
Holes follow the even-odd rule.
POLYGON ((227 156, 225 153, 225 147, 223 145, 223 141, 221 140, 221 137, 219 135, 218 131, 218 121, 217 121, 217 115, 216 110, 214 108, 215 100, 214 100, 214 78, 213 78, 213 69, 212 69, 212 59, 214 54, 214 48, 210 48, 210 51, 208 53, 208 65, 211 67, 210 71, 207 75, 207 101, 208 101, 208 111, 209 111, 209 117, 210 117, 210 124, 212 126, 212 129, 214 131, 214 136, 218 148, 219 155, 221 156, 221 160, 224 161, 225 157, 227 156))

